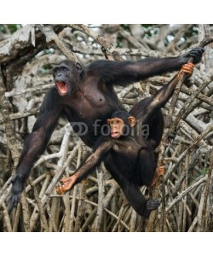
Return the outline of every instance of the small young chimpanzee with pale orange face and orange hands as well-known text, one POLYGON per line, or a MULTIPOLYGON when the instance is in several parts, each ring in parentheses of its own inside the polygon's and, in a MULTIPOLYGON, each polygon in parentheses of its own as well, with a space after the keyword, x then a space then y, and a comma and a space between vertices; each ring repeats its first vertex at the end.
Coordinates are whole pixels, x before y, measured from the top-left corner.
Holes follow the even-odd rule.
MULTIPOLYGON (((180 73, 184 72, 190 76, 193 73, 193 66, 193 63, 183 65, 180 73)), ((112 113, 112 118, 107 119, 111 128, 110 135, 100 137, 94 153, 90 154, 84 165, 71 177, 60 180, 63 185, 56 187, 57 193, 61 195, 71 189, 103 160, 112 177, 123 189, 131 206, 141 216, 148 218, 149 213, 158 208, 160 201, 158 199, 147 201, 141 194, 140 186, 153 185, 158 176, 164 173, 164 166, 157 168, 153 144, 142 136, 141 128, 147 119, 168 102, 176 88, 180 73, 154 96, 138 102, 130 111, 135 113, 135 117, 123 110, 112 113)))

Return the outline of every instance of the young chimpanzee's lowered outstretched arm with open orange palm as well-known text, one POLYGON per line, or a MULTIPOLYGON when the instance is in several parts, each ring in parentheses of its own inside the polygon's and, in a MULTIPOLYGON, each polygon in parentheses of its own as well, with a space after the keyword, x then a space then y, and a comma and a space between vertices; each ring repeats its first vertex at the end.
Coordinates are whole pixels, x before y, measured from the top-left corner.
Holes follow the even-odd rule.
POLYGON ((89 155, 83 166, 78 168, 78 170, 74 172, 72 176, 60 179, 60 182, 63 184, 60 187, 55 188, 58 195, 64 194, 66 191, 72 189, 76 183, 81 182, 85 177, 87 177, 95 166, 98 166, 101 163, 103 157, 112 148, 112 144, 112 140, 102 143, 93 154, 89 155))

